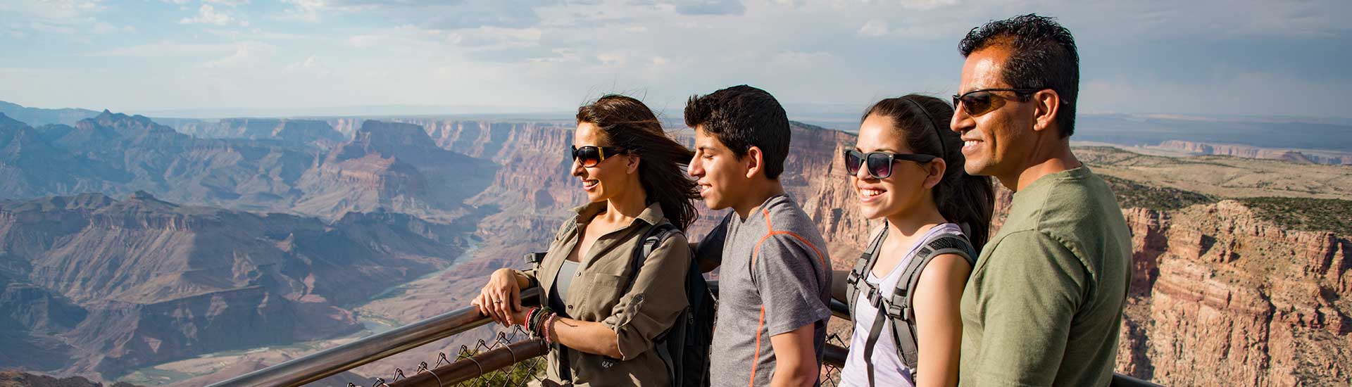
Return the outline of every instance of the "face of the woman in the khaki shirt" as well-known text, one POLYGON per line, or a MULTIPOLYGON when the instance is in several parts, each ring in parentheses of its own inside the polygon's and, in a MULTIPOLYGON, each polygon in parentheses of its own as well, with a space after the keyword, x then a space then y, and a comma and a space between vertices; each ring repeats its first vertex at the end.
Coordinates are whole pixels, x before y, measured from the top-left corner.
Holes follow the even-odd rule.
MULTIPOLYGON (((583 146, 608 147, 611 143, 596 124, 583 122, 573 131, 573 146, 579 149, 583 146)), ((608 200, 625 189, 625 183, 630 179, 631 170, 637 170, 637 168, 630 168, 629 164, 631 162, 627 154, 606 153, 606 158, 594 166, 583 166, 580 158, 573 158, 573 176, 577 176, 583 191, 587 192, 588 202, 608 200)))

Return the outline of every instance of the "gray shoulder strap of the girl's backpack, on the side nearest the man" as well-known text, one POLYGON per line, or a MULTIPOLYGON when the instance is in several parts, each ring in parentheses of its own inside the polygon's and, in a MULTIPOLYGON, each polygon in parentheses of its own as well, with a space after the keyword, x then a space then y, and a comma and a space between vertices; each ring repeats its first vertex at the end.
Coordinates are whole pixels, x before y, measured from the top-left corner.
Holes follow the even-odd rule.
POLYGON ((967 260, 972 267, 976 265, 976 254, 972 252, 972 244, 967 241, 967 237, 956 233, 945 233, 930 237, 925 245, 915 252, 915 257, 911 258, 910 264, 906 265, 906 271, 902 272, 900 280, 896 281, 896 290, 892 292, 891 299, 887 302, 887 317, 894 321, 892 323, 892 340, 896 342, 896 350, 902 359, 902 364, 911 369, 911 379, 915 379, 915 365, 919 349, 915 344, 915 314, 914 314, 914 298, 915 292, 911 291, 921 280, 921 272, 925 267, 937 256, 942 254, 957 254, 967 260), (895 323, 904 322, 904 323, 895 323))

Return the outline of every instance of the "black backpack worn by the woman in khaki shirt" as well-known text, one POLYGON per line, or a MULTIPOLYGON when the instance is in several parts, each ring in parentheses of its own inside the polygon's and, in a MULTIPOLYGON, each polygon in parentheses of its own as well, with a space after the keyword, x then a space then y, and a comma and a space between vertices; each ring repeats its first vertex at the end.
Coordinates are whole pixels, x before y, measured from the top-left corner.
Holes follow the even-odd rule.
MULTIPOLYGON (((573 233, 576 229, 577 223, 569 219, 562 230, 560 230, 560 235, 573 233)), ((638 272, 644 268, 644 261, 648 260, 648 256, 675 233, 681 233, 681 230, 667 221, 649 227, 644 233, 642 242, 634 248, 629 265, 633 268, 633 273, 629 276, 630 281, 625 284, 625 291, 621 294, 629 292, 634 286, 634 280, 638 279, 638 272)), ((708 348, 714 341, 715 300, 714 294, 708 290, 708 283, 704 281, 704 276, 699 271, 699 263, 694 257, 695 252, 691 252, 690 268, 685 271, 685 310, 680 313, 672 327, 654 340, 653 345, 662 363, 667 363, 672 386, 681 387, 704 387, 710 384, 708 348)), ((539 264, 542 258, 544 253, 533 253, 526 257, 527 263, 533 264, 539 264)), ((566 350, 562 346, 560 349, 566 350)), ((566 356, 561 356, 560 375, 568 375, 566 359, 566 356)), ((602 367, 608 367, 619 361, 619 359, 606 357, 602 367)))

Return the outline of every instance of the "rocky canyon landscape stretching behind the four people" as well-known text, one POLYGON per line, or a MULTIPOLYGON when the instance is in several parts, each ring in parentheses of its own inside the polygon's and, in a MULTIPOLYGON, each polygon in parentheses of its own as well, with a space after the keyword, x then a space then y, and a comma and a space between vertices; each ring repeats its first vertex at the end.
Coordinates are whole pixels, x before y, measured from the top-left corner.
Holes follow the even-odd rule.
MULTIPOLYGON (((0 367, 222 380, 360 336, 364 319, 397 325, 464 307, 489 272, 545 249, 584 200, 562 153, 568 122, 188 124, 103 112, 34 129, 0 116, 0 198, 9 198, 0 203, 0 367), (279 349, 295 342, 312 345, 279 349), (260 346, 273 349, 193 359, 260 346), (211 364, 222 361, 230 367, 211 364)), ((672 135, 691 143, 688 130, 672 135)), ((854 210, 837 161, 853 142, 794 123, 783 177, 836 268, 850 267, 879 225, 854 210)), ((1352 383, 1352 230, 1279 217, 1348 208, 1352 168, 1076 154, 1110 177, 1133 231, 1118 372, 1167 386, 1352 383)), ((1000 192, 998 214, 1009 203, 1000 192)), ((702 208, 692 240, 725 214, 702 208)), ((345 378, 388 378, 488 332, 345 378)))

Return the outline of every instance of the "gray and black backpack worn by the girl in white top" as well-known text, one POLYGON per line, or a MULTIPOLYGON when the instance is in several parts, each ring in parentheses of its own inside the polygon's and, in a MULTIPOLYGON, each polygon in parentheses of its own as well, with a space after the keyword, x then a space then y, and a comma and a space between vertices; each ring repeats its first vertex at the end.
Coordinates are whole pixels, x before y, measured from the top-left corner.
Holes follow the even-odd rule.
POLYGON ((902 360, 902 364, 906 364, 906 368, 910 368, 911 380, 915 380, 918 348, 915 345, 915 315, 911 309, 914 292, 910 290, 915 288, 915 284, 919 283, 921 271, 940 254, 959 254, 968 264, 976 267, 976 254, 965 235, 957 233, 929 235, 922 241, 921 249, 915 252, 915 256, 906 264, 906 268, 902 269, 902 277, 896 281, 896 288, 890 294, 884 294, 883 290, 864 280, 873 271, 873 264, 877 263, 877 252, 882 249, 884 240, 887 240, 886 226, 868 245, 859 261, 854 263, 854 268, 850 269, 849 277, 845 280, 849 292, 846 300, 849 302, 850 315, 854 315, 854 304, 861 295, 879 311, 877 317, 873 318, 873 326, 869 329, 868 341, 864 345, 864 364, 868 369, 869 386, 876 386, 873 383, 873 346, 877 344, 877 338, 883 334, 884 323, 888 321, 892 322, 892 329, 890 330, 892 342, 896 342, 896 356, 902 360), (883 318, 884 315, 886 318, 883 318))

